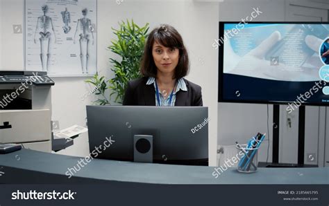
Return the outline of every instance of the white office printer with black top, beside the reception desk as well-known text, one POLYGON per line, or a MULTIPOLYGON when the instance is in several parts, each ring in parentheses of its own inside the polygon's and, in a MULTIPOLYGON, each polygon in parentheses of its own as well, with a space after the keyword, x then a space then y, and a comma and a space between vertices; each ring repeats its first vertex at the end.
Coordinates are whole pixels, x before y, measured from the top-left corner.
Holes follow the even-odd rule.
POLYGON ((0 71, 0 144, 17 143, 26 149, 51 152, 73 140, 53 137, 51 86, 42 71, 0 71), (55 148, 55 149, 53 149, 55 148))

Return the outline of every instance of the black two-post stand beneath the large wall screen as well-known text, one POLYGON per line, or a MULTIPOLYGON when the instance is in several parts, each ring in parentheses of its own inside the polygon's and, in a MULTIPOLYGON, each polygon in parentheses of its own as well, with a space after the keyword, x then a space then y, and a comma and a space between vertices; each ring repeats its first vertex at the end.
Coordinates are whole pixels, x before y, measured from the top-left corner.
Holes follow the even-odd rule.
POLYGON ((272 162, 259 162, 258 167, 318 167, 317 165, 305 165, 305 106, 298 108, 298 163, 279 163, 279 125, 280 125, 280 105, 273 104, 273 145, 272 162))

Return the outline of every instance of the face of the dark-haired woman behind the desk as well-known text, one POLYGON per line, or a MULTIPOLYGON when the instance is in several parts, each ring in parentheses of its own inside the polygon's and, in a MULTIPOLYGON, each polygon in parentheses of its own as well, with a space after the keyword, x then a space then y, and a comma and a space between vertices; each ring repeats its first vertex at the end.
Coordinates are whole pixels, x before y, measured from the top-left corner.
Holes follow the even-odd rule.
POLYGON ((179 59, 178 48, 168 48, 155 41, 152 48, 152 55, 158 71, 161 73, 172 73, 174 75, 179 59))

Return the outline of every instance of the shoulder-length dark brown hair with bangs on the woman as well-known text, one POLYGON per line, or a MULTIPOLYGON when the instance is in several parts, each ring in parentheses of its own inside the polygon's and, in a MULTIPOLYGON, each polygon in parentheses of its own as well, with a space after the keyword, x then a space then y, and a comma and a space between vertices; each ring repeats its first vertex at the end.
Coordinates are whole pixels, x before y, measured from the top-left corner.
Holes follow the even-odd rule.
POLYGON ((185 77, 189 71, 189 57, 187 55, 187 50, 178 31, 167 24, 162 24, 160 27, 154 28, 147 38, 144 47, 144 57, 140 66, 140 72, 142 75, 145 77, 156 77, 157 67, 155 66, 152 55, 152 48, 155 41, 165 47, 179 49, 180 57, 175 68, 174 79, 185 77))

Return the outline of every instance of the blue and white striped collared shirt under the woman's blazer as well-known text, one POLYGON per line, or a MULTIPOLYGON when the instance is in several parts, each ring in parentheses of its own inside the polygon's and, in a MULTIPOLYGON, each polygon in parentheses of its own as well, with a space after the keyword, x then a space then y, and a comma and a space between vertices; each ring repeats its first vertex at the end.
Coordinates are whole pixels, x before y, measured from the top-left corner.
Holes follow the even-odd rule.
POLYGON ((177 86, 176 86, 176 90, 173 93, 173 96, 171 97, 171 102, 169 104, 170 101, 170 93, 167 95, 167 99, 165 99, 165 97, 163 97, 162 93, 159 91, 159 97, 160 97, 160 105, 158 103, 157 97, 156 97, 156 86, 155 86, 155 78, 154 77, 149 77, 149 79, 147 79, 146 85, 150 85, 153 84, 154 89, 155 89, 155 106, 175 106, 175 102, 176 102, 176 93, 178 91, 187 91, 187 86, 184 82, 183 78, 178 79, 177 81, 177 86))

